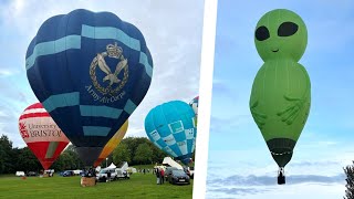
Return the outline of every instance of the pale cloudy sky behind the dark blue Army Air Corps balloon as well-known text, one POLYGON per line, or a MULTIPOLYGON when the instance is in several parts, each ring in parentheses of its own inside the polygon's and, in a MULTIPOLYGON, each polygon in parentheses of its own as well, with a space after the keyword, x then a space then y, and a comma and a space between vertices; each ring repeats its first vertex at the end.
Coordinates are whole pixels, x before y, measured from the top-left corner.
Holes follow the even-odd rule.
POLYGON ((50 17, 74 9, 110 11, 136 25, 153 55, 150 88, 129 117, 126 136, 146 136, 148 111, 171 100, 189 102, 198 95, 202 35, 202 0, 1 0, 0 4, 0 135, 25 146, 18 118, 38 100, 29 85, 24 57, 40 25, 50 17))

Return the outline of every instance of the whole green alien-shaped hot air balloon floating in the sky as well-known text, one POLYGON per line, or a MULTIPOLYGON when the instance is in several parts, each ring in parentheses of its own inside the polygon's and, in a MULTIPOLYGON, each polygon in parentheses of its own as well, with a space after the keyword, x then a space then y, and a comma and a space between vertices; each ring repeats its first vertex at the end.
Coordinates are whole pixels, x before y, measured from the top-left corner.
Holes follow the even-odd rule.
POLYGON ((290 10, 272 10, 257 23, 254 43, 264 64, 252 85, 250 111, 283 171, 310 112, 310 77, 298 63, 308 44, 306 27, 290 10))

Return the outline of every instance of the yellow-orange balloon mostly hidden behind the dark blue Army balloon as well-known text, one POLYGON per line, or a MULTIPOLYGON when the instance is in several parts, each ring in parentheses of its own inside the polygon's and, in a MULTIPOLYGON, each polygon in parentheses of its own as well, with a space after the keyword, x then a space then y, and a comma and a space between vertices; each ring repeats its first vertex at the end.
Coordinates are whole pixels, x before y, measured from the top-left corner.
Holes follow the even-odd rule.
POLYGON ((127 129, 128 129, 128 121, 126 121, 123 124, 123 126, 118 129, 118 132, 115 133, 114 136, 108 140, 106 146, 104 146, 98 159, 93 165, 94 167, 97 167, 119 145, 127 129))

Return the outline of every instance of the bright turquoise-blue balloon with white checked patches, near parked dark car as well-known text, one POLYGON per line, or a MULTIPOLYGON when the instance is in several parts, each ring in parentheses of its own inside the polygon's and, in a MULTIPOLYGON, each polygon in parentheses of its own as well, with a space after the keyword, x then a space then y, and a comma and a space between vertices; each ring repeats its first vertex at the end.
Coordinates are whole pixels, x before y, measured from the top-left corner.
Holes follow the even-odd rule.
POLYGON ((145 130, 158 148, 188 164, 196 146, 195 119, 195 112, 187 103, 171 101, 147 114, 145 130))

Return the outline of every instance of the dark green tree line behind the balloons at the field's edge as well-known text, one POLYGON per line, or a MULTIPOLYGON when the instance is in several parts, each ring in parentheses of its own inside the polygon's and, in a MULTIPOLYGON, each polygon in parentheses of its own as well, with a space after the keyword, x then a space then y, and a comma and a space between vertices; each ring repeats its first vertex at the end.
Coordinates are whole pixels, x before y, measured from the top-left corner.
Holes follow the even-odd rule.
MULTIPOLYGON (((162 164, 166 153, 157 148, 146 137, 126 137, 104 160, 101 167, 114 163, 127 161, 129 165, 162 164)), ((70 145, 51 166, 55 171, 82 169, 84 165, 80 160, 75 147, 70 145)), ((15 171, 40 171, 42 166, 33 153, 28 148, 12 146, 12 142, 6 136, 0 137, 0 175, 14 174, 15 171)))

